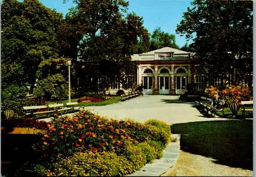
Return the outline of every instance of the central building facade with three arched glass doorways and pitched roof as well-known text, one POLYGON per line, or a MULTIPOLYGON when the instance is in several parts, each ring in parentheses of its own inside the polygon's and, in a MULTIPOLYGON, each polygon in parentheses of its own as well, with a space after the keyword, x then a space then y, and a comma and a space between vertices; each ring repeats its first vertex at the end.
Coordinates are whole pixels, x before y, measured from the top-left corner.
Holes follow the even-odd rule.
POLYGON ((194 74, 193 53, 164 47, 143 54, 132 55, 137 63, 137 84, 144 94, 182 94, 186 85, 195 82, 204 89, 202 76, 194 74))

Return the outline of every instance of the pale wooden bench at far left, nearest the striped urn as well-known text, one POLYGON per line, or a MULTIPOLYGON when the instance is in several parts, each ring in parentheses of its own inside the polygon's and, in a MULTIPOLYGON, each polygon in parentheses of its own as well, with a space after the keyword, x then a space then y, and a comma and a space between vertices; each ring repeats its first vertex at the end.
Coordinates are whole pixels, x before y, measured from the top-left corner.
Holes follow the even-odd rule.
POLYGON ((54 114, 56 110, 49 110, 47 105, 44 106, 25 106, 23 107, 25 110, 25 116, 30 116, 30 115, 40 115, 40 114, 46 114, 48 117, 49 114, 54 114), (35 112, 36 111, 36 112, 35 112))

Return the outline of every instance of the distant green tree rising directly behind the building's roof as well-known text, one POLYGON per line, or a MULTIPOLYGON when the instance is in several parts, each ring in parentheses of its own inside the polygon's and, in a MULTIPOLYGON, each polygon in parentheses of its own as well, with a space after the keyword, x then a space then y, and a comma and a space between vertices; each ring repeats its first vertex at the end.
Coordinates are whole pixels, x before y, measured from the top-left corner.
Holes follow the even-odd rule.
POLYGON ((172 47, 179 48, 176 44, 176 39, 174 34, 169 34, 161 31, 161 28, 157 28, 154 30, 151 35, 151 50, 159 49, 162 47, 172 47))

